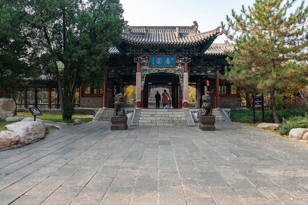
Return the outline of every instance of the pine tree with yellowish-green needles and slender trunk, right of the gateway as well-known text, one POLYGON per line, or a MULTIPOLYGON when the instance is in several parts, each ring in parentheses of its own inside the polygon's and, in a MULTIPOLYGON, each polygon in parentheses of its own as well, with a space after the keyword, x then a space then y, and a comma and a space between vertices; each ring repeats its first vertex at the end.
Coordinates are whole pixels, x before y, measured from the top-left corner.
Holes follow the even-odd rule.
MULTIPOLYGON (((294 9, 296 0, 255 0, 233 9, 221 22, 224 33, 235 51, 227 58, 224 77, 238 86, 270 93, 276 123, 275 94, 290 89, 291 84, 307 82, 307 20, 304 1, 294 9)), ((293 92, 293 90, 289 90, 293 92)))

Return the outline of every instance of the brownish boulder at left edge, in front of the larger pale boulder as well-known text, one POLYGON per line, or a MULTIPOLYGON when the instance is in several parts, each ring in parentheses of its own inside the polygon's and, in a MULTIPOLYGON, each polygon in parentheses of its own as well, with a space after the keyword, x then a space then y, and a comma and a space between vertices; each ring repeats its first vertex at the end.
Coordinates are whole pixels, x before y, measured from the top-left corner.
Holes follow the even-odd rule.
POLYGON ((18 134, 13 131, 0 131, 0 151, 22 147, 18 134))

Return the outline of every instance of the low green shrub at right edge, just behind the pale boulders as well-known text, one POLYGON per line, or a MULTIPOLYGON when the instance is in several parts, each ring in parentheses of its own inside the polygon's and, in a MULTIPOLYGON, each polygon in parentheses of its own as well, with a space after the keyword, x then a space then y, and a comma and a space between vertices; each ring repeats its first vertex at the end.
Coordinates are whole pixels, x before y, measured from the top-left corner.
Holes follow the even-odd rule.
POLYGON ((308 128, 308 113, 304 116, 298 115, 283 118, 282 125, 278 130, 281 135, 288 135, 293 128, 308 128))

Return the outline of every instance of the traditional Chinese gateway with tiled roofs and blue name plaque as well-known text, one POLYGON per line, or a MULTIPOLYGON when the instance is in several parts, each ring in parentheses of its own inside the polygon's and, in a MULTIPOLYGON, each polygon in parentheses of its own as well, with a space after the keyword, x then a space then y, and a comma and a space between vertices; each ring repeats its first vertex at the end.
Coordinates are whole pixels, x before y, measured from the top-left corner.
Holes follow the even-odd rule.
MULTIPOLYGON (((221 34, 219 28, 201 33, 196 22, 192 26, 129 26, 125 22, 122 43, 109 50, 103 92, 107 95, 100 96, 103 106, 113 107, 116 93, 123 93, 125 85, 136 85, 137 107, 149 106, 150 92, 156 93, 152 89, 156 87, 169 89, 174 108, 187 107, 188 85, 193 85, 196 108, 206 93, 215 107, 240 107, 239 88, 218 77, 227 65, 225 51, 232 51, 231 46, 213 44, 221 34)), ((93 94, 81 93, 81 106, 88 97, 93 100, 93 94)))

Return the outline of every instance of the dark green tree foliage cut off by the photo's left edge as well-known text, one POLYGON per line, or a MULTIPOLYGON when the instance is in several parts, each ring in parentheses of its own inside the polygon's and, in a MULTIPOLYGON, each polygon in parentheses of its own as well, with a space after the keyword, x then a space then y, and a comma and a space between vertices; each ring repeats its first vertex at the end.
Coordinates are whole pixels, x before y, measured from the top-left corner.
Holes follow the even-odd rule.
POLYGON ((8 2, 0 2, 0 90, 3 97, 14 98, 16 90, 35 72, 23 60, 27 55, 23 45, 28 43, 21 35, 25 13, 15 12, 8 2))

